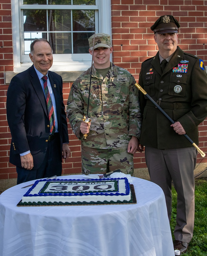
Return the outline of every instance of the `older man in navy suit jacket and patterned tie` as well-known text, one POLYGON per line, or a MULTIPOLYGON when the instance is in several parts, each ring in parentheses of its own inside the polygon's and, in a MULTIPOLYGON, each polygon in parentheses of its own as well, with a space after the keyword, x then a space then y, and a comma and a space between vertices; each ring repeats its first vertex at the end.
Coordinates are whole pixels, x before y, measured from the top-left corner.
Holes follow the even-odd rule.
POLYGON ((62 158, 66 161, 70 154, 62 78, 48 71, 53 64, 50 43, 35 39, 30 59, 33 65, 13 77, 7 91, 9 162, 16 165, 17 184, 60 176, 62 158))

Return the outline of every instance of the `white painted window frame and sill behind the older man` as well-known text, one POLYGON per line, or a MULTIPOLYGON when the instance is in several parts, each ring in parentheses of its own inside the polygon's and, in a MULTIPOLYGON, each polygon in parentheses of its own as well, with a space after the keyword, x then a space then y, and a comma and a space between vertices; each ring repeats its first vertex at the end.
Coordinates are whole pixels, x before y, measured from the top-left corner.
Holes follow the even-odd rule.
MULTIPOLYGON (((23 28, 21 27, 21 12, 27 9, 27 5, 22 4, 22 0, 11 1, 12 12, 12 40, 14 54, 14 72, 22 72, 31 66, 28 56, 22 58, 23 28), (19 25, 18 25, 19 24, 19 25)), ((45 5, 44 5, 45 6, 45 5)), ((48 5, 45 6, 48 8, 48 5)), ((96 0, 96 5, 91 9, 95 10, 95 20, 98 20, 96 33, 106 33, 111 36, 111 0, 96 0)), ((35 7, 34 7, 35 8, 35 7)), ((67 5, 51 5, 50 9, 67 9, 67 5)), ((31 9, 31 8, 29 8, 31 9)), ((84 9, 84 5, 71 5, 70 9, 84 9)), ((95 25, 97 26, 97 24, 95 25)), ((91 66, 90 54, 54 54, 51 71, 80 71, 91 66)))

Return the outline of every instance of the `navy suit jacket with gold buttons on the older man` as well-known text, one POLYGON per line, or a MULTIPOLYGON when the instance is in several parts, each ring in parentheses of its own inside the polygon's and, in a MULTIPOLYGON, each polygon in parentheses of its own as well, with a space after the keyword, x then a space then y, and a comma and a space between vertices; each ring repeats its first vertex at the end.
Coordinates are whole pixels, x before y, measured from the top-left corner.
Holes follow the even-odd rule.
MULTIPOLYGON (((69 143, 62 78, 51 71, 48 71, 48 77, 56 103, 60 142, 58 154, 61 161, 62 143, 69 143)), ((9 162, 21 167, 19 154, 30 150, 33 169, 38 169, 45 157, 50 128, 44 92, 33 65, 11 79, 6 104, 12 137, 9 162)))

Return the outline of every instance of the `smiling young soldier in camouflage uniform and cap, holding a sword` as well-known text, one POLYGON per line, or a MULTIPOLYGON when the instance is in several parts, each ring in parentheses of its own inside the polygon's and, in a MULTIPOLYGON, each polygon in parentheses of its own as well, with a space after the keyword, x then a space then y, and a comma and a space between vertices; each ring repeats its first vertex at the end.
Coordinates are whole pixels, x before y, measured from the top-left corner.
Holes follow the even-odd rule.
POLYGON ((67 102, 67 117, 74 134, 81 140, 82 173, 107 173, 120 169, 133 175, 133 154, 139 148, 141 116, 134 77, 110 62, 110 36, 96 34, 89 39, 89 52, 94 54, 91 68, 73 83, 67 102), (90 128, 89 128, 90 127, 90 128), (83 134, 88 134, 84 138, 83 134))

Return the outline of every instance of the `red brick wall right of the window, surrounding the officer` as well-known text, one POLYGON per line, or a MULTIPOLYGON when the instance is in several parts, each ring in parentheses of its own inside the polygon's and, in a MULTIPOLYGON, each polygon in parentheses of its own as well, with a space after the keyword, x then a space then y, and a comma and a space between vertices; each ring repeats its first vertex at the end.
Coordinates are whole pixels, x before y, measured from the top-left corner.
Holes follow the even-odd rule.
MULTIPOLYGON (((180 23, 178 45, 200 56, 207 66, 207 1, 111 0, 113 62, 139 79, 141 63, 156 55, 151 25, 161 15, 173 15, 180 23)), ((199 125, 199 147, 207 152, 207 120, 199 125)), ((206 154, 207 155, 207 154, 206 154)), ((198 154, 198 163, 207 162, 198 154)), ((144 153, 134 155, 135 168, 146 167, 144 153)))

